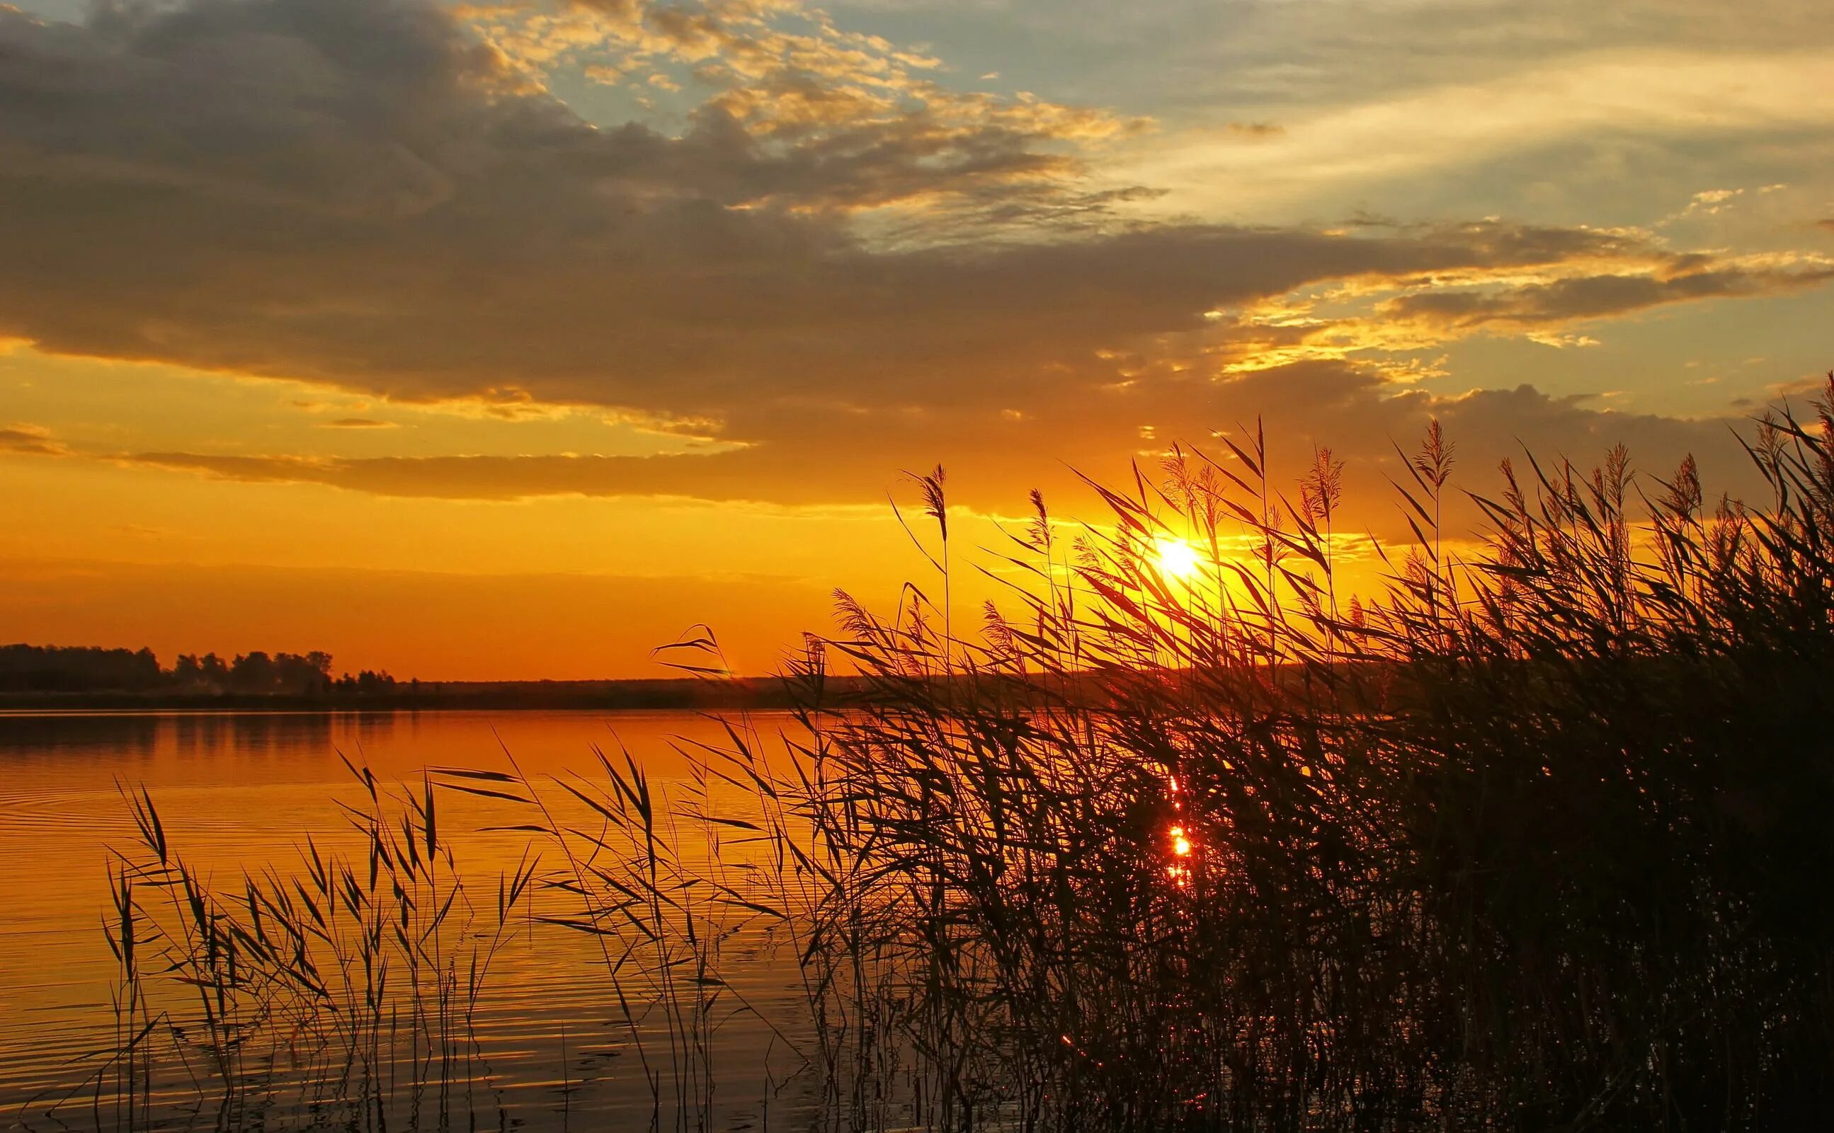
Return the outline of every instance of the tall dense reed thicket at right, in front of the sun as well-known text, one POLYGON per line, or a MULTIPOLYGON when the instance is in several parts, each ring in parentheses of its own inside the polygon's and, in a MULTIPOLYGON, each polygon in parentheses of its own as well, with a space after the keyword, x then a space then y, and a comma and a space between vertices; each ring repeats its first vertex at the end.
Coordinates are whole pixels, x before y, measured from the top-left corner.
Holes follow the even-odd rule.
POLYGON ((1825 1113, 1827 396, 1761 424, 1768 500, 1706 513, 1691 460, 1638 480, 1621 449, 1504 466, 1467 557, 1434 424, 1398 484, 1412 544, 1348 609, 1341 466, 1289 497, 1258 434, 1099 488, 1067 546, 1034 499, 1009 556, 1033 585, 985 632, 919 588, 889 616, 842 596, 827 654, 869 691, 834 704, 805 666, 776 790, 818 889, 805 964, 869 1085, 847 1124, 1825 1113), (1163 572, 1166 539, 1205 568, 1163 572))

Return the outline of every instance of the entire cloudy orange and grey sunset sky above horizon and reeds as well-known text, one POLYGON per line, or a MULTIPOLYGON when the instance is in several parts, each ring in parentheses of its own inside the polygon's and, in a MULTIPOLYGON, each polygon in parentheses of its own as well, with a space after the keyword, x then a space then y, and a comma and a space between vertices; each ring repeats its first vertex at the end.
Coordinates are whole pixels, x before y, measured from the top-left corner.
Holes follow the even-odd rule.
POLYGON ((0 640, 768 671, 906 471, 994 546, 1256 420, 1377 537, 1429 418, 1737 493, 1828 75, 1821 0, 0 4, 0 640))

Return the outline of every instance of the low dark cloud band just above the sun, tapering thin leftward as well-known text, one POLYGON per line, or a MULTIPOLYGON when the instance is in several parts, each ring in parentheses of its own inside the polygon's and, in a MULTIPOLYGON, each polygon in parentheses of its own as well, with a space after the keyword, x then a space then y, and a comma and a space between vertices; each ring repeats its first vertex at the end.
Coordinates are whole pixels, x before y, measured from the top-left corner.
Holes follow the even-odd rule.
MULTIPOLYGON (((1161 398, 1163 416, 1144 418, 1121 394, 1113 420, 1086 416, 985 418, 952 429, 946 451, 921 420, 904 427, 860 431, 827 420, 834 438, 820 453, 756 446, 710 455, 669 456, 376 456, 301 458, 207 453, 141 453, 132 464, 204 473, 244 482, 321 484, 347 491, 398 497, 523 499, 539 495, 684 495, 728 502, 818 504, 836 497, 834 484, 858 497, 884 499, 900 468, 948 462, 952 499, 996 513, 1023 508, 1023 488, 1040 486, 1055 499, 1084 499, 1077 471, 1040 460, 1042 449, 1077 453, 1082 471, 1113 480, 1130 460, 1154 475, 1157 453, 1170 442, 1223 458, 1212 436, 1225 431, 1242 442, 1260 420, 1269 438, 1276 486, 1289 486, 1328 446, 1348 464, 1348 508, 1385 537, 1405 537, 1392 508, 1390 477, 1403 477, 1396 447, 1412 449, 1440 418, 1464 455, 1458 486, 1495 488, 1498 456, 1533 453, 1546 464, 1596 464, 1614 444, 1629 444, 1638 468, 1667 475, 1684 455, 1700 456, 1709 482, 1726 491, 1755 488, 1731 431, 1720 420, 1676 420, 1616 412, 1592 398, 1553 398, 1522 385, 1432 396, 1396 392, 1381 378, 1342 363, 1302 363, 1247 374, 1229 383, 1190 383, 1161 398), (1115 429, 1115 420, 1126 422, 1115 429), (1143 442, 1139 427, 1152 425, 1143 442)), ((1475 510, 1453 500, 1449 519, 1475 522, 1475 510)))

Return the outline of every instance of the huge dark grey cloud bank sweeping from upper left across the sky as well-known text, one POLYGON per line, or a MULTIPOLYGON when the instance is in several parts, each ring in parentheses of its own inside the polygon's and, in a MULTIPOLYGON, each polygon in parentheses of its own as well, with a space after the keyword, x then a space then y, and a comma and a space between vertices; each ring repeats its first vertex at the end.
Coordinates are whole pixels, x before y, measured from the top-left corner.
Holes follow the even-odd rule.
MULTIPOLYGON (((1104 192, 1135 191, 1077 180, 1073 116, 952 104, 856 121, 822 110, 831 92, 772 72, 748 95, 796 101, 820 128, 715 99, 671 138, 581 121, 414 0, 105 4, 83 26, 0 9, 0 337, 394 400, 602 405, 741 446, 138 456, 231 478, 811 500, 860 499, 943 456, 1011 499, 1051 458, 1130 455, 1143 425, 1170 438, 1256 412, 1379 458, 1383 431, 1410 434, 1431 398, 1335 363, 1229 376, 1247 345, 1302 336, 1212 312, 1297 288, 1405 288, 1394 317, 1467 326, 1819 279, 1495 220, 1126 227, 1104 192), (1000 218, 1005 238, 862 235, 877 229, 858 209, 921 216, 943 198, 1000 218), (1436 286, 1574 264, 1596 268, 1436 286)), ((1561 444, 1647 429, 1673 449, 1691 429, 1533 390, 1438 411, 1498 438, 1498 422, 1541 422, 1561 444)))

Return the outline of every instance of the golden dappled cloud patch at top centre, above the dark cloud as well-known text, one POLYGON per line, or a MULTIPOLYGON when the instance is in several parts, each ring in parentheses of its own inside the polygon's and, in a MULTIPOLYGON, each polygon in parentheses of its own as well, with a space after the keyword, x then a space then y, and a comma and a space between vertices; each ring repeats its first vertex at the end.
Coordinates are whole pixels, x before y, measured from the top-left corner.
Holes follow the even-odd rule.
POLYGON ((989 196, 1080 211, 1111 200, 1073 185, 1082 147, 1146 126, 1031 94, 954 90, 935 79, 941 60, 794 2, 530 0, 464 15, 537 86, 567 66, 629 79, 646 88, 638 101, 686 84, 677 103, 693 128, 743 136, 748 160, 776 165, 754 192, 803 209, 946 211, 956 226, 983 218, 989 196))

